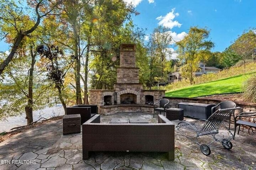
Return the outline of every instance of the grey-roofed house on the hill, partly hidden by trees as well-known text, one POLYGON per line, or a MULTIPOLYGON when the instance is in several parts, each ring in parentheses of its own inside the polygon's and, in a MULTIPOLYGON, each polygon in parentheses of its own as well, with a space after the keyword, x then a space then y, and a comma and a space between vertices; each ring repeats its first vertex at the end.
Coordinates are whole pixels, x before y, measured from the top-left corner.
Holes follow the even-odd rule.
MULTIPOLYGON (((216 67, 206 67, 205 64, 200 61, 198 64, 198 70, 194 72, 194 74, 195 76, 201 76, 203 74, 208 74, 208 73, 217 73, 220 70, 221 70, 220 68, 216 68, 216 67)), ((168 83, 178 82, 181 79, 182 77, 180 76, 180 72, 178 71, 168 74, 168 83)))

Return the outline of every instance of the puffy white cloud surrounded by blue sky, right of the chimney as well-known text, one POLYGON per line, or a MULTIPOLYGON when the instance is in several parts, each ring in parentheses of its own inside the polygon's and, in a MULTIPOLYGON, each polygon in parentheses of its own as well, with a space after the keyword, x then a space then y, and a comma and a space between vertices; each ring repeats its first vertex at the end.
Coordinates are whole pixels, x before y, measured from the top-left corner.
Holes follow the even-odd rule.
POLYGON ((173 27, 180 27, 181 24, 178 21, 174 21, 176 16, 179 16, 178 13, 174 13, 175 8, 171 12, 166 14, 166 16, 159 16, 156 20, 159 20, 158 25, 163 25, 164 27, 172 29, 173 27))

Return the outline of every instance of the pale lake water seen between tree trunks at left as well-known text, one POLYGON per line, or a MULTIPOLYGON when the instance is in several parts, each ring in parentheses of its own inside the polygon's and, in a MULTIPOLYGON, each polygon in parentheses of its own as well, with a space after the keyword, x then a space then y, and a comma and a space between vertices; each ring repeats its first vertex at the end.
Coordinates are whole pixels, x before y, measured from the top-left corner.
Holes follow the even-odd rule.
MULTIPOLYGON (((42 110, 33 111, 33 121, 37 121, 41 117, 49 119, 51 117, 64 115, 64 109, 62 104, 57 104, 54 107, 46 107, 42 110)), ((9 117, 8 121, 0 121, 0 133, 4 131, 10 131, 10 129, 18 126, 27 125, 26 114, 22 114, 16 117, 9 117)), ((44 120, 44 119, 41 119, 44 120)))

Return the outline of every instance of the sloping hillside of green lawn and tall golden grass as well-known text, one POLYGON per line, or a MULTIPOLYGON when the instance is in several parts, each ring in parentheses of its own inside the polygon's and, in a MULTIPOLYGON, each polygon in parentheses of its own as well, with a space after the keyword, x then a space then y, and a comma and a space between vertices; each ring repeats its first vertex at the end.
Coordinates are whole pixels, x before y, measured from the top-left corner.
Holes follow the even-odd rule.
POLYGON ((242 72, 241 67, 242 66, 233 67, 229 70, 222 70, 218 74, 206 74, 204 76, 197 77, 196 82, 198 82, 198 84, 195 85, 190 85, 184 80, 178 83, 173 83, 169 85, 169 88, 172 86, 173 90, 167 91, 166 96, 192 98, 209 96, 213 94, 242 92, 243 82, 245 82, 252 75, 256 75, 256 63, 247 64, 248 72, 245 74, 238 74, 242 72), (219 80, 216 80, 217 78, 219 78, 219 80), (180 88, 182 86, 183 88, 180 88))

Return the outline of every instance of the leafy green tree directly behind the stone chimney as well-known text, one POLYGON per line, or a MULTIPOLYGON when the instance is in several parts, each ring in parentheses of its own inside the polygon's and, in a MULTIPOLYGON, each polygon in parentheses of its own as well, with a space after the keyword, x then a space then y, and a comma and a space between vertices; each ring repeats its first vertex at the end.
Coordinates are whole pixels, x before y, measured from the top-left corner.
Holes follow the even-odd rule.
POLYGON ((90 68, 92 71, 91 88, 94 89, 112 89, 116 83, 116 68, 119 66, 120 44, 135 43, 136 44, 136 65, 140 67, 140 81, 144 79, 141 74, 146 69, 145 49, 142 45, 142 37, 144 32, 141 29, 134 29, 134 25, 129 22, 125 26, 119 27, 116 36, 109 37, 110 47, 98 46, 94 47, 92 62, 90 68))

